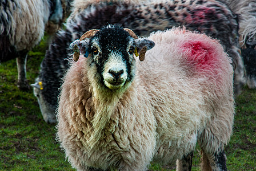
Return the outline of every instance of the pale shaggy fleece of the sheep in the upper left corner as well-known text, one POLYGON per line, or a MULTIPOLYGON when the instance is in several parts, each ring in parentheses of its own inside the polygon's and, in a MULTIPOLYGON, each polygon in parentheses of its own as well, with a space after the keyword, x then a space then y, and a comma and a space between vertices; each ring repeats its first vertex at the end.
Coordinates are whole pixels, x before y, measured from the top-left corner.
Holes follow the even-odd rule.
POLYGON ((48 1, 42 0, 1 2, 1 35, 7 32, 10 44, 15 45, 17 51, 31 50, 43 36, 50 16, 49 6, 48 1))

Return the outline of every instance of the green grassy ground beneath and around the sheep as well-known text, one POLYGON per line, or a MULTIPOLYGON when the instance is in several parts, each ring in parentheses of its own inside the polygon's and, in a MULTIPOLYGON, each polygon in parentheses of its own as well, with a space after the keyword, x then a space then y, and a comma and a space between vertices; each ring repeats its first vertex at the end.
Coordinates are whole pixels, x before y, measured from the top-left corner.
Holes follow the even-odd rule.
MULTIPOLYGON (((27 78, 34 83, 45 55, 44 42, 29 53, 27 78)), ((46 124, 33 91, 16 86, 15 60, 0 65, 0 170, 74 170, 55 141, 55 125, 46 124)), ((256 170, 256 91, 245 87, 236 99, 234 133, 226 146, 229 170, 256 170)), ((199 148, 193 170, 199 170, 199 148)), ((173 170, 152 165, 150 170, 173 170)))

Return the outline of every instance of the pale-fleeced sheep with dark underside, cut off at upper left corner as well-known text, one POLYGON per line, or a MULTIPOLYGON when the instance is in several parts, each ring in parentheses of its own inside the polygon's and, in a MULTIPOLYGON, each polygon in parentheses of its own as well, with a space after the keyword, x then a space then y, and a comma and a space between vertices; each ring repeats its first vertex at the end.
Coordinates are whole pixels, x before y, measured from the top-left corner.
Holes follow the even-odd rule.
POLYGON ((61 1, 3 0, 0 9, 0 62, 17 58, 18 87, 27 89, 27 52, 41 41, 45 26, 53 30, 62 22, 61 1))

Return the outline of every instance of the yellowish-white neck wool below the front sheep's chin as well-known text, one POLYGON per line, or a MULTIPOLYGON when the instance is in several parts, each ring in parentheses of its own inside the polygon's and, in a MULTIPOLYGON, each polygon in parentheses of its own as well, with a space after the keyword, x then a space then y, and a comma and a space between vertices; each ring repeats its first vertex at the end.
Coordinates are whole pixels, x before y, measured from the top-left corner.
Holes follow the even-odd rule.
MULTIPOLYGON (((95 70, 95 69, 94 69, 95 70)), ((100 76, 92 74, 90 69, 87 71, 88 80, 90 83, 91 95, 94 104, 94 117, 91 121, 93 125, 93 135, 90 137, 91 148, 104 136, 105 133, 113 133, 117 124, 110 124, 111 122, 118 123, 118 120, 111 119, 117 112, 120 99, 129 93, 132 88, 131 82, 127 82, 122 89, 111 90, 106 88, 100 82, 100 76)))

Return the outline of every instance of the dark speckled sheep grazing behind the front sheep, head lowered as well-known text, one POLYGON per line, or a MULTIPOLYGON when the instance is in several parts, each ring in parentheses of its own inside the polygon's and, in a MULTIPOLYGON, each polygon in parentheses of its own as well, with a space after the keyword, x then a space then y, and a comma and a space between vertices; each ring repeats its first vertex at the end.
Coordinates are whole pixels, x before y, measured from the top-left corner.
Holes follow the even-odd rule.
POLYGON ((67 19, 66 30, 55 36, 41 63, 41 71, 33 84, 43 118, 55 123, 57 96, 61 78, 69 68, 69 45, 84 31, 111 24, 133 29, 139 36, 185 25, 190 30, 205 32, 221 40, 222 46, 233 59, 235 95, 246 83, 245 69, 239 54, 237 17, 218 1, 74 1, 73 12, 67 19), (207 10, 206 10, 207 9, 207 10), (201 19, 201 18, 202 19, 201 19), (42 84, 42 87, 39 86, 42 84))

